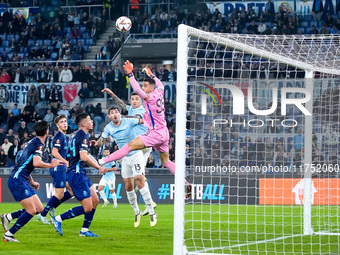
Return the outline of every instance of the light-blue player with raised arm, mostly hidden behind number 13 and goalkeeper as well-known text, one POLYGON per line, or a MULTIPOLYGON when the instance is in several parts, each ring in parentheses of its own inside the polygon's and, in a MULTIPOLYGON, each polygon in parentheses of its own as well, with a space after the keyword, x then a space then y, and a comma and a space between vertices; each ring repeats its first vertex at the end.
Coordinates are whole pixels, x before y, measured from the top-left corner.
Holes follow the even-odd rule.
MULTIPOLYGON (((112 96, 112 98, 115 100, 115 102, 122 108, 122 112, 123 113, 127 112, 127 116, 138 118, 138 119, 143 119, 144 118, 145 108, 142 105, 143 102, 142 102, 141 97, 137 93, 133 92, 131 94, 131 98, 130 98, 131 105, 126 105, 123 102, 123 100, 121 100, 109 88, 103 89, 102 92, 107 92, 110 96, 112 96)), ((134 132, 135 132, 135 136, 136 137, 139 136, 139 135, 145 134, 146 131, 148 131, 148 128, 146 126, 144 126, 144 125, 137 125, 137 126, 134 127, 134 132)), ((151 147, 145 148, 145 149, 142 150, 142 152, 143 152, 143 155, 144 155, 144 163, 146 165, 146 162, 148 161, 149 155, 152 152, 152 148, 151 147)), ((148 185, 146 177, 145 177, 145 185, 149 189, 149 185, 148 185)), ((135 191, 138 192, 138 190, 139 189, 136 186, 135 191)), ((154 209, 157 207, 157 204, 153 201, 153 199, 152 199, 152 207, 154 209)), ((146 216, 148 214, 149 214, 149 211, 147 210, 147 208, 145 208, 145 210, 143 212, 143 216, 146 216)))

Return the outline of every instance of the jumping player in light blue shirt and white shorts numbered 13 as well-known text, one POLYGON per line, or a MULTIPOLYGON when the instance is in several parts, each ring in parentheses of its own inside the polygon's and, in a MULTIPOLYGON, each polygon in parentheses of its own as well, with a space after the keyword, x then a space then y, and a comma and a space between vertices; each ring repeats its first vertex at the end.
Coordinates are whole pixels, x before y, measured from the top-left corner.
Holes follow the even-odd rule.
MULTIPOLYGON (((110 136, 116 141, 119 148, 135 139, 133 128, 138 124, 142 124, 142 119, 121 118, 120 110, 117 107, 110 107, 108 116, 111 122, 104 128, 104 132, 98 141, 91 141, 96 146, 101 146, 104 139, 110 136)), ((152 207, 152 200, 149 189, 145 186, 145 164, 141 150, 131 151, 122 159, 122 177, 125 183, 127 198, 135 211, 135 223, 137 228, 140 225, 140 219, 143 216, 139 210, 137 196, 134 191, 134 182, 144 199, 147 210, 150 213, 150 226, 153 227, 157 223, 157 214, 152 207)))

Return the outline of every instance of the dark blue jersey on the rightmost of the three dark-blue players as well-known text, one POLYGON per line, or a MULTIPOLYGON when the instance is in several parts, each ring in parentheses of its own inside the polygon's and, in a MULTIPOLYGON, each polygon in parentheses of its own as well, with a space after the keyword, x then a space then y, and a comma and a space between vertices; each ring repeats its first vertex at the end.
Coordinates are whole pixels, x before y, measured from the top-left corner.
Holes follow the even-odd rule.
POLYGON ((79 129, 71 139, 70 142, 70 160, 67 172, 75 171, 76 173, 86 173, 85 163, 80 159, 81 151, 88 151, 89 149, 89 134, 79 129))

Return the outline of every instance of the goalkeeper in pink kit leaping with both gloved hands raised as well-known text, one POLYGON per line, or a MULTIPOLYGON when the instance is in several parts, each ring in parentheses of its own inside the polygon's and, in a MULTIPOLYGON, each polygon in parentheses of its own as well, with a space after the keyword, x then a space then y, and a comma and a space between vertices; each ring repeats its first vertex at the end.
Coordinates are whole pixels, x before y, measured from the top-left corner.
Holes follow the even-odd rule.
MULTIPOLYGON (((142 88, 134 78, 133 66, 129 61, 125 62, 124 69, 129 77, 132 88, 144 99, 144 125, 149 129, 145 134, 136 137, 120 150, 112 153, 106 158, 100 159, 99 164, 103 165, 116 161, 126 156, 130 151, 142 150, 147 147, 154 147, 159 152, 162 164, 175 174, 175 163, 169 159, 169 130, 166 127, 164 114, 164 86, 155 77, 150 68, 146 67, 143 72, 150 78, 143 82, 142 88), (157 86, 157 88, 156 88, 157 86)), ((191 186, 186 183, 186 198, 191 196, 191 186)))

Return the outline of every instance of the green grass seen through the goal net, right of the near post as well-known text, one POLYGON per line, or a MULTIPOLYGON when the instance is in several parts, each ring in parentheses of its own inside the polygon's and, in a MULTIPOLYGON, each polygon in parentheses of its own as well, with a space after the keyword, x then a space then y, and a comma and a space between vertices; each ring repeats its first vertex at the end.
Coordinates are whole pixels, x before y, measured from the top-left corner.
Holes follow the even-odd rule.
MULTIPOLYGON (((340 208, 312 206, 314 231, 340 232, 340 208)), ((189 251, 226 254, 340 254, 339 236, 303 233, 302 206, 186 206, 185 239, 189 251), (283 240, 264 241, 298 235, 283 240)))

